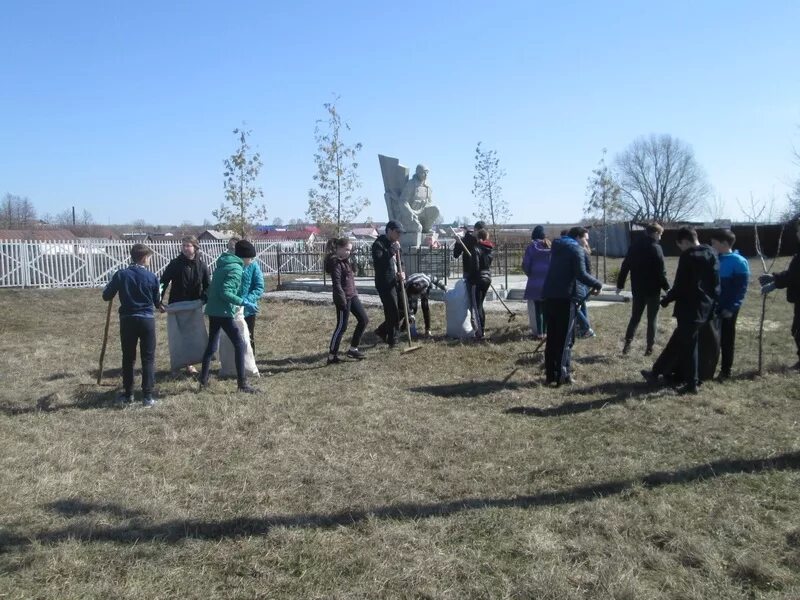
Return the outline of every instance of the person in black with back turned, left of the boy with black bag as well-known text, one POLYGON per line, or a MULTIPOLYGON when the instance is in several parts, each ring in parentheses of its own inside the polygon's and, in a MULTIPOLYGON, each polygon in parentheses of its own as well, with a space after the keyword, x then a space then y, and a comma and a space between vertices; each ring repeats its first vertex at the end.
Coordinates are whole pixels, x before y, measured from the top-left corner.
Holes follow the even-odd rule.
POLYGON ((659 241, 664 228, 658 223, 647 225, 644 229, 645 236, 636 240, 628 249, 625 260, 617 276, 617 294, 625 288, 625 279, 631 274, 631 292, 633 303, 631 306, 631 320, 625 331, 625 345, 622 353, 627 354, 631 349, 633 336, 642 319, 642 313, 647 309, 647 346, 645 356, 653 353, 653 344, 656 342, 656 321, 658 308, 661 302, 661 290, 669 290, 667 270, 664 268, 664 251, 659 241))

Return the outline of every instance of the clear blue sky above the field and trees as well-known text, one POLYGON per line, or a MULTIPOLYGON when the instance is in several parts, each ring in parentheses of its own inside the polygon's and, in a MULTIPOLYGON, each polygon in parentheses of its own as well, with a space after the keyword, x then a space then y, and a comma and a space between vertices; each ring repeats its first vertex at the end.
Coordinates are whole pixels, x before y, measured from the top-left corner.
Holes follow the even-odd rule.
POLYGON ((800 2, 18 1, 0 22, 0 194, 100 223, 201 223, 246 122, 270 221, 302 217, 316 119, 336 93, 377 155, 431 170, 471 215, 476 142, 518 222, 578 219, 608 148, 691 144, 729 216, 800 176, 800 2))

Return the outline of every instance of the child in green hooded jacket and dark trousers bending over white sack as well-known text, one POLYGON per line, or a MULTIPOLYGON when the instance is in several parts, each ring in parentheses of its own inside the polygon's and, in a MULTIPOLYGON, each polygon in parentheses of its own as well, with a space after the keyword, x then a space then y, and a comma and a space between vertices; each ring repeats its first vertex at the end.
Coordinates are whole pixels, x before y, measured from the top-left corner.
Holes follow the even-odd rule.
POLYGON ((254 313, 258 311, 255 304, 239 295, 242 272, 245 265, 249 265, 253 261, 255 255, 256 250, 253 244, 247 240, 239 240, 236 242, 233 254, 225 253, 217 259, 217 268, 208 288, 208 302, 206 303, 208 345, 203 355, 203 368, 200 371, 201 387, 208 385, 211 357, 217 351, 221 329, 233 344, 238 390, 245 394, 257 392, 247 384, 247 373, 244 370, 245 344, 247 342, 233 323, 233 317, 239 306, 244 306, 246 311, 250 310, 254 313))

